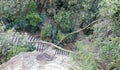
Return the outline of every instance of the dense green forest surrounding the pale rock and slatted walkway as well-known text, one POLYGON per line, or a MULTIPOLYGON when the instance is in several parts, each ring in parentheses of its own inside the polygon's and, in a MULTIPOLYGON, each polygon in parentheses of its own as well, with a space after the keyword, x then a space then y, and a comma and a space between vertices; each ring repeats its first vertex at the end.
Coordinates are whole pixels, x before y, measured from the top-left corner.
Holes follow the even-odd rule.
POLYGON ((22 33, 72 51, 71 70, 120 70, 120 0, 0 0, 0 64, 35 50, 22 33))

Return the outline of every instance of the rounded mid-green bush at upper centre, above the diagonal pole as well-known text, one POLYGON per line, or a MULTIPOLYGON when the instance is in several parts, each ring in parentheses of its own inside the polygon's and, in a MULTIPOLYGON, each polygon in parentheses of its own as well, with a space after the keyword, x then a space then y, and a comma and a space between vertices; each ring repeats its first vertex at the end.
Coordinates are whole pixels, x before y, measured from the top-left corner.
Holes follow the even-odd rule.
POLYGON ((56 15, 54 15, 54 19, 57 27, 62 32, 70 32, 72 30, 72 19, 71 13, 66 12, 65 10, 60 10, 56 15))

